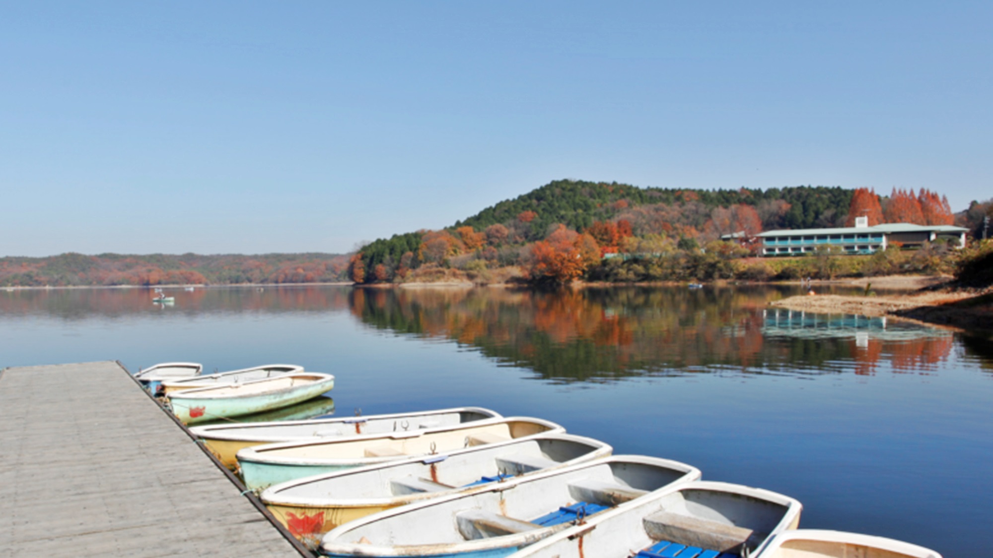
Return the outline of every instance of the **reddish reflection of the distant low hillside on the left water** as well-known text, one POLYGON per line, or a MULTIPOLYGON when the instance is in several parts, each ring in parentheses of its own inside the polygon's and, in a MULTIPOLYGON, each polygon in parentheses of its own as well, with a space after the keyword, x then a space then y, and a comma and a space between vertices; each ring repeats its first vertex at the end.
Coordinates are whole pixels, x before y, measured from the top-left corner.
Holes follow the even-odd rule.
MULTIPOLYGON (((349 287, 217 287, 195 291, 166 288, 176 303, 163 314, 196 315, 240 312, 324 312, 349 307, 349 287)), ((152 289, 31 289, 0 292, 0 315, 47 316, 64 320, 123 317, 147 313, 152 289)))

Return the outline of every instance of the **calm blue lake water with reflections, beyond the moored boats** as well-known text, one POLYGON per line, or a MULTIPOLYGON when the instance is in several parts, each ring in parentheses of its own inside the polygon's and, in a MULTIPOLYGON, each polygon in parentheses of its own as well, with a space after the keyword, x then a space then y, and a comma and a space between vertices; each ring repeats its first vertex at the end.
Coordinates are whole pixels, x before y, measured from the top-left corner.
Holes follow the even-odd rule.
POLYGON ((0 366, 302 364, 337 376, 339 414, 538 416, 794 496, 804 527, 945 557, 993 547, 988 341, 767 308, 789 288, 167 292, 174 306, 137 289, 2 291, 0 366))

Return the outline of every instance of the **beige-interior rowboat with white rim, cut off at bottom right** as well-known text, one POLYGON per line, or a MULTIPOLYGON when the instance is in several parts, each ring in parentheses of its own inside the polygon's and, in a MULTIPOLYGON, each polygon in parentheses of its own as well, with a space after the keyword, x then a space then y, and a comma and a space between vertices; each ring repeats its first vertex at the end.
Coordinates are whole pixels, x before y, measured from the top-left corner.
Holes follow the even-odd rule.
POLYGON ((941 558, 937 552, 892 538, 796 529, 776 535, 755 558, 941 558))

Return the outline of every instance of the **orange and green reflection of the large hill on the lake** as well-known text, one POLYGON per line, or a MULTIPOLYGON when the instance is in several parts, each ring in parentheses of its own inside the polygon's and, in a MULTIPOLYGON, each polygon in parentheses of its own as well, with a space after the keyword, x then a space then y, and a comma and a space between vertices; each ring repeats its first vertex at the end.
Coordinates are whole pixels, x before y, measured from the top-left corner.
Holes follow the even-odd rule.
POLYGON ((843 320, 807 318, 811 325, 804 327, 797 319, 782 328, 794 335, 782 335, 770 329, 766 311, 781 296, 776 289, 747 287, 359 289, 351 302, 355 316, 375 328, 455 340, 559 380, 729 369, 873 373, 884 361, 904 371, 924 369, 951 348, 950 336, 927 328, 880 327, 863 339, 858 332, 870 332, 868 325, 845 329, 843 320))

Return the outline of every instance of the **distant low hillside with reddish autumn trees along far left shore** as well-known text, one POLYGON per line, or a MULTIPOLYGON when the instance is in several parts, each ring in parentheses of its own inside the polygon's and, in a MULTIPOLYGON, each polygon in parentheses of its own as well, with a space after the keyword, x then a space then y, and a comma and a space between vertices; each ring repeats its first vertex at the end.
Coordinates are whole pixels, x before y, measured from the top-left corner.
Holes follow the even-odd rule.
POLYGON ((313 283, 344 281, 346 255, 98 254, 0 258, 0 287, 313 283))

